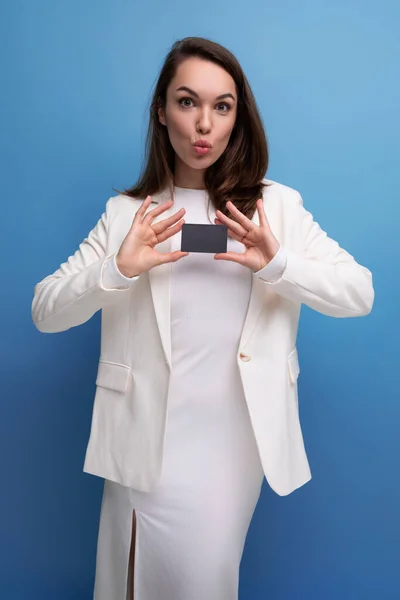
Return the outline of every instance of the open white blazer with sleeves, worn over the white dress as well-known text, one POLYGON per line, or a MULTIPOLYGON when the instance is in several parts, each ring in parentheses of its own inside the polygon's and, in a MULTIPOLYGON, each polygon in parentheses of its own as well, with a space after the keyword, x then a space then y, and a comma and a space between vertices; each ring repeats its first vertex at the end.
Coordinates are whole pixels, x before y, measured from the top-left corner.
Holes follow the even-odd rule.
MULTIPOLYGON (((292 188, 264 189, 271 229, 286 251, 283 275, 254 274, 237 365, 266 479, 280 496, 311 479, 299 420, 296 336, 301 304, 331 317, 367 315, 371 272, 329 238, 292 188)), ((153 202, 169 199, 168 191, 153 202)), ((101 351, 90 438, 83 470, 151 491, 162 471, 171 371, 171 263, 128 285, 106 287, 114 259, 142 201, 112 197, 74 255, 35 286, 32 318, 55 333, 102 309, 101 351)), ((152 207, 150 207, 152 208, 152 207)), ((166 219, 174 206, 156 218, 166 219)), ((258 213, 253 221, 259 224, 258 213)), ((159 244, 168 252, 170 240, 159 244)))

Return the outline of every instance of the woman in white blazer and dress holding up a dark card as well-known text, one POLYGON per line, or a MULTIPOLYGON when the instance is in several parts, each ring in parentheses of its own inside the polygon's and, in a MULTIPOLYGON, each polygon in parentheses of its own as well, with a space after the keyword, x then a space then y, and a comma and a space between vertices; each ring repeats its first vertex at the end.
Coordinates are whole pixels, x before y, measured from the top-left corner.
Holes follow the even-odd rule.
POLYGON ((32 315, 57 332, 102 309, 84 465, 105 478, 95 600, 235 600, 264 475, 279 495, 311 478, 301 304, 367 315, 372 277, 263 178, 262 121, 227 49, 173 45, 147 142, 139 182, 37 284, 32 315), (184 222, 226 226, 227 252, 182 251, 184 222))

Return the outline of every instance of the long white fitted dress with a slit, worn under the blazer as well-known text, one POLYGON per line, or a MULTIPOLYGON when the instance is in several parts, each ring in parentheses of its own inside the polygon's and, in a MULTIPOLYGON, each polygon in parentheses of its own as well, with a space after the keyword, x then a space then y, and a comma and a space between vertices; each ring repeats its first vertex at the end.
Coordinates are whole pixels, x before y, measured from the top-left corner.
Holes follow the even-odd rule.
MULTIPOLYGON (((205 190, 176 187, 176 211, 182 206, 187 223, 209 223, 205 190)), ((172 250, 180 239, 172 238, 172 250)), ((228 250, 244 249, 228 238, 228 250)), ((151 493, 105 481, 94 600, 128 597, 133 510, 135 600, 238 598, 240 561, 264 477, 236 358, 251 282, 247 267, 213 254, 172 263, 163 472, 151 493)))

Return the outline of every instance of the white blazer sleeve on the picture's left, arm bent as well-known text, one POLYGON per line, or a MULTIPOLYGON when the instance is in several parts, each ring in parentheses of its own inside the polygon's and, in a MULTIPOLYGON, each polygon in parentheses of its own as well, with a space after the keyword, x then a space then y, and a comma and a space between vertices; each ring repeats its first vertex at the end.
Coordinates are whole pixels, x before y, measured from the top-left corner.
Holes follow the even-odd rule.
POLYGON ((36 284, 31 311, 39 331, 56 333, 81 325, 121 294, 129 293, 132 284, 116 287, 109 276, 114 259, 114 254, 106 255, 111 200, 75 254, 36 284))

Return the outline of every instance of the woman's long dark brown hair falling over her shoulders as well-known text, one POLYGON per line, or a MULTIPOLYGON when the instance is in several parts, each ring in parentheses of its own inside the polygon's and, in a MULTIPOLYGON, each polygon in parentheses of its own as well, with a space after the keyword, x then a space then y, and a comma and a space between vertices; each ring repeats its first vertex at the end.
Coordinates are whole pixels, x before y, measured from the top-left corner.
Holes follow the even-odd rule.
POLYGON ((176 41, 165 58, 150 106, 145 157, 137 183, 115 191, 145 199, 169 187, 173 196, 175 151, 167 128, 158 118, 158 108, 165 109, 167 88, 177 68, 186 59, 198 57, 211 61, 227 71, 236 85, 238 96, 236 122, 229 143, 205 172, 205 187, 216 209, 235 220, 226 208, 233 204, 249 219, 256 211, 256 201, 262 197, 262 179, 268 169, 268 142, 261 115, 247 78, 235 56, 226 48, 209 39, 186 37, 176 41))

